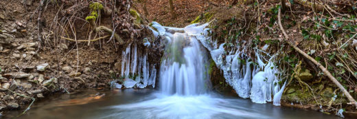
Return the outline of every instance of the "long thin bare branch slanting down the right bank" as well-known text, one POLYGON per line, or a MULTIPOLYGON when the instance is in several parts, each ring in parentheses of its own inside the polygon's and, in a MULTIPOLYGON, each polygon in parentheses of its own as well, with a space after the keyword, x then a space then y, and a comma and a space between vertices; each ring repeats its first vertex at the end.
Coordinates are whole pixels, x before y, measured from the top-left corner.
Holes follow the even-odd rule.
MULTIPOLYGON (((283 32, 284 36, 286 39, 289 39, 288 37, 288 34, 286 34, 284 28, 283 28, 283 25, 281 25, 281 9, 279 8, 279 11, 278 11, 278 15, 277 15, 277 19, 278 19, 278 24, 279 24, 279 28, 281 30, 281 32, 283 32)), ((306 54, 305 52, 303 52, 302 50, 299 49, 299 47, 293 45, 292 43, 290 43, 289 41, 287 40, 284 40, 286 41, 286 43, 288 43, 292 48, 294 48, 295 50, 297 50, 297 52, 299 52, 300 54, 302 54, 304 57, 308 58, 310 61, 312 61, 312 63, 314 63, 315 65, 317 65, 322 71, 323 73, 328 77, 330 78, 330 80, 335 84, 337 85, 337 87, 339 89, 341 89, 341 91, 343 91, 343 94, 345 94, 345 96, 348 98, 349 100, 349 103, 347 104, 351 104, 351 105, 354 105, 357 109, 357 102, 356 100, 354 100, 354 98, 348 93, 348 91, 345 89, 345 87, 343 87, 343 85, 341 85, 341 83, 338 82, 338 80, 336 80, 336 78, 334 78, 334 76, 332 76, 332 74, 325 68, 323 67, 323 65, 321 65, 319 62, 317 62, 314 58, 312 58, 311 56, 309 56, 308 54, 306 54)))

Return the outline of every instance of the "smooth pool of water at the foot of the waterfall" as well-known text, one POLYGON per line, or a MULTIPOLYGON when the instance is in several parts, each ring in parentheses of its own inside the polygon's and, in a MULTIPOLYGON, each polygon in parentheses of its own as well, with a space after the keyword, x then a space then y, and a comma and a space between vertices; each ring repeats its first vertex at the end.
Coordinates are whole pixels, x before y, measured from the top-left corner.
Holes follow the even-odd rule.
MULTIPOLYGON (((13 118, 22 111, 3 113, 13 118)), ((271 104, 255 104, 249 99, 220 94, 197 96, 163 95, 154 89, 75 91, 35 102, 19 118, 338 118, 271 104)))

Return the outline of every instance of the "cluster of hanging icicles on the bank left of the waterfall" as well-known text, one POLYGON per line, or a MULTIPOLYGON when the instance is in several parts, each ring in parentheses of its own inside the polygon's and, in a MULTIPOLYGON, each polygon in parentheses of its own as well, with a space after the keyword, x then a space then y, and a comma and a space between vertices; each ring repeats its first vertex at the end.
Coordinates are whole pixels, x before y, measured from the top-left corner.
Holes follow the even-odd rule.
POLYGON ((148 86, 155 87, 157 69, 155 65, 148 62, 148 53, 140 52, 137 45, 129 44, 122 52, 122 78, 124 87, 139 88, 148 86))

